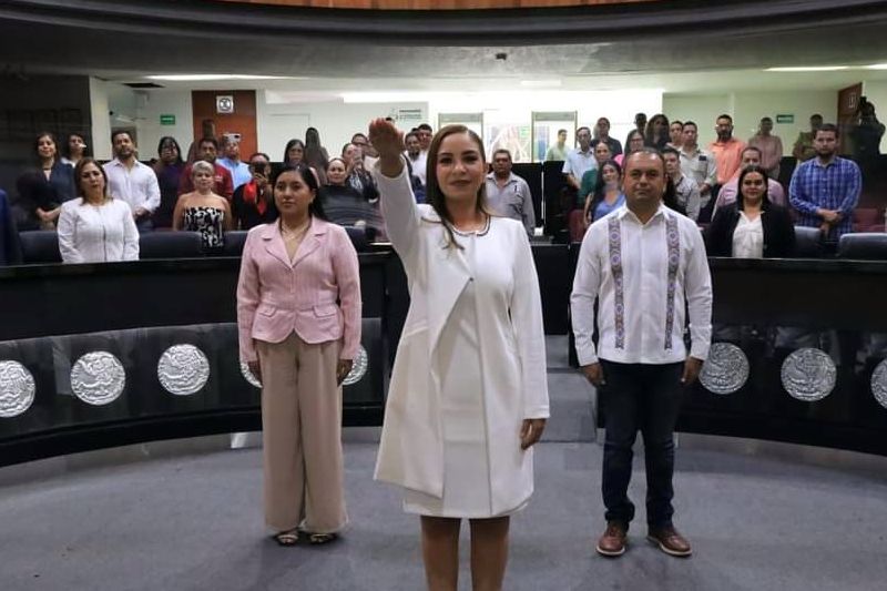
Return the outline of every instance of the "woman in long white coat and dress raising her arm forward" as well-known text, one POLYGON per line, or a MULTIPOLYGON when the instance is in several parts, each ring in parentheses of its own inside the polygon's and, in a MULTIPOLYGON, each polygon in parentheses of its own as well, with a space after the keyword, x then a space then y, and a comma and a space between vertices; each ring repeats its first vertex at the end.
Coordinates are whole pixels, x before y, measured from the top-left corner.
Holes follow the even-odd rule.
POLYGON ((530 243, 519 222, 487 208, 487 163, 473 132, 438 132, 428 204, 417 205, 402 133, 380 119, 369 131, 388 236, 410 292, 376 478, 401 487, 405 510, 421 516, 429 589, 457 589, 468 518, 473 589, 498 590, 509 516, 532 495, 531 446, 549 416, 530 243))

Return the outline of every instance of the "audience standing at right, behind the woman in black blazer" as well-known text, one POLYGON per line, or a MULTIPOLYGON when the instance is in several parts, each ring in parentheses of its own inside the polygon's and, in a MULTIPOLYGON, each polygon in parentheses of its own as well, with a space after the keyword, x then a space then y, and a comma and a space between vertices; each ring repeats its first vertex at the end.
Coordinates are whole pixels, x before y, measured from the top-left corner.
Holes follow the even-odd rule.
MULTIPOLYGON (((869 144, 875 137, 880 141, 884 125, 877 121, 871 103, 865 103, 864 108, 868 120, 867 125, 860 126, 870 131, 856 146, 857 152, 861 149, 870 160, 871 153, 878 151, 869 144)), ((613 208, 611 205, 622 203, 615 187, 611 187, 608 197, 601 196, 600 181, 608 167, 622 164, 628 155, 645 147, 659 150, 665 159, 669 195, 673 195, 666 205, 701 227, 707 227, 722 210, 728 213, 726 207, 731 204, 738 203, 736 207, 743 211, 744 200, 738 198, 744 188, 741 176, 753 166, 765 176, 763 202, 767 211, 781 212, 775 215, 782 218, 784 208, 793 225, 819 228, 826 243, 834 244, 853 231, 853 213, 863 184, 860 164, 865 162, 838 155, 840 132, 836 125, 823 123, 822 115, 813 115, 810 131, 802 132, 795 142, 793 155, 797 165, 787 186, 779 181, 783 142, 772 133, 773 120, 767 116, 761 119, 758 131, 744 142, 733 134, 733 118, 726 113, 720 115, 714 125, 716 140, 707 147, 699 145, 699 125, 694 121, 669 122, 661 113, 650 121, 638 113, 635 128, 625 139, 624 153, 622 144, 610 137, 609 130, 606 118, 598 120, 593 133, 589 128, 579 128, 578 146, 563 154, 567 186, 562 203, 572 242, 581 242, 593 222, 606 216, 613 208)), ((857 136, 863 133, 854 130, 857 136)), ((559 154, 550 150, 549 156, 553 155, 559 154)), ((753 227, 759 237, 757 223, 753 227)), ((787 232, 788 226, 779 224, 779 228, 787 232)), ((787 236, 781 241, 794 243, 787 236)))

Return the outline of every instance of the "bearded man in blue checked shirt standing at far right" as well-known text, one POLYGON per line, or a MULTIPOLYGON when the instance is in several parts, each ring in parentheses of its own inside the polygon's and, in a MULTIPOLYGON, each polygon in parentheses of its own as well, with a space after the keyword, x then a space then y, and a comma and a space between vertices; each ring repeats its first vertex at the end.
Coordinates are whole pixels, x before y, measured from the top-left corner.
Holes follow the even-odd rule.
POLYGON ((859 201, 863 175, 852 160, 837 155, 838 130, 826 123, 813 139, 816 157, 797 165, 788 201, 798 212, 797 225, 818 227, 827 241, 853 232, 853 211, 859 201))

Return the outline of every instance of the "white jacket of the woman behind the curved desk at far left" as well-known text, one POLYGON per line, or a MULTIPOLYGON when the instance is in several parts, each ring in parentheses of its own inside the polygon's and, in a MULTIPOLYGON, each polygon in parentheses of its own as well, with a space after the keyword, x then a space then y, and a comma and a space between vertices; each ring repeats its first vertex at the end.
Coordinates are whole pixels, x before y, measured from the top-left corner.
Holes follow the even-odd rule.
POLYGON ((58 235, 65 263, 139 261, 139 230, 123 200, 89 205, 78 197, 62 203, 58 235))

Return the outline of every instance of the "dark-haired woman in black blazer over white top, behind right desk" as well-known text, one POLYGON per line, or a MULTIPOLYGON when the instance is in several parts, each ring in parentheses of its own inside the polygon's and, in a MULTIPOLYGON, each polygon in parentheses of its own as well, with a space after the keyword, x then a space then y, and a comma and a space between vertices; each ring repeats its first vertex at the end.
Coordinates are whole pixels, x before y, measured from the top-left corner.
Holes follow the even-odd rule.
POLYGON ((717 210, 717 215, 708 226, 705 246, 708 256, 754 258, 758 249, 764 258, 792 256, 795 249, 792 216, 785 207, 767 198, 767 173, 764 169, 743 169, 736 202, 717 210), (747 240, 735 240, 737 226, 742 226, 742 234, 747 235, 747 240), (742 252, 737 252, 737 246, 742 252))

